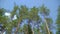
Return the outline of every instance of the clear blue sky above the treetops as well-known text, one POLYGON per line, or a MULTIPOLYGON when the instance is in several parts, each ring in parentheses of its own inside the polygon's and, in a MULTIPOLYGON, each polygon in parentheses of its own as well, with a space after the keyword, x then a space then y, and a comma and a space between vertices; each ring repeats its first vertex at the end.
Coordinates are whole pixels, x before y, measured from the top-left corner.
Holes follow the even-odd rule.
POLYGON ((33 6, 39 7, 44 4, 50 9, 50 16, 53 18, 54 22, 56 20, 57 8, 60 5, 60 0, 0 0, 0 8, 5 8, 11 11, 14 7, 14 2, 18 6, 26 5, 29 8, 33 6))

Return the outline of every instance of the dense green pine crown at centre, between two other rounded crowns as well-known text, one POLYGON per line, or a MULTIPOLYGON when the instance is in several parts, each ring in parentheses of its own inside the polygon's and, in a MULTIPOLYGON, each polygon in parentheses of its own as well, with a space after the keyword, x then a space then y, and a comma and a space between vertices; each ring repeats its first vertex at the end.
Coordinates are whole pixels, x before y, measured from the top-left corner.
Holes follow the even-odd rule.
POLYGON ((29 12, 29 19, 34 20, 34 21, 38 21, 40 19, 38 16, 38 8, 36 7, 31 8, 29 12))

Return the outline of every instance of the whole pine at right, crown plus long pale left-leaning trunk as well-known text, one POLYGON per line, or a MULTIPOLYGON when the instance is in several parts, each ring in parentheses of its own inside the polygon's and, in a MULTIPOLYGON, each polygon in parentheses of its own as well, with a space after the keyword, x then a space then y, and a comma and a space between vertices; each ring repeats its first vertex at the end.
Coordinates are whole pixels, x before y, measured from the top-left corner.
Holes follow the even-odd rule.
POLYGON ((49 30, 49 27, 48 27, 48 22, 45 18, 47 18, 47 16, 49 16, 49 9, 47 7, 44 6, 44 4, 40 7, 40 14, 44 17, 44 23, 45 23, 45 29, 47 34, 50 34, 50 30, 49 30))

